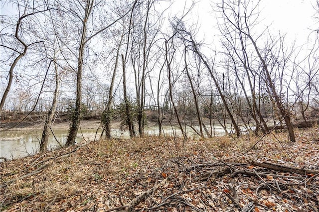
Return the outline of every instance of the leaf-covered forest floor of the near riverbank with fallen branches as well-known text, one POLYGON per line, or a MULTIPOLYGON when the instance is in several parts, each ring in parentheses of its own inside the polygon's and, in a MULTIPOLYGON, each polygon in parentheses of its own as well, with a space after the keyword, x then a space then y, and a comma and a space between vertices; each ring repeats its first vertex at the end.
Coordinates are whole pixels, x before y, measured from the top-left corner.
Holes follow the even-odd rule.
POLYGON ((264 137, 148 136, 0 163, 1 211, 319 210, 319 127, 264 137))

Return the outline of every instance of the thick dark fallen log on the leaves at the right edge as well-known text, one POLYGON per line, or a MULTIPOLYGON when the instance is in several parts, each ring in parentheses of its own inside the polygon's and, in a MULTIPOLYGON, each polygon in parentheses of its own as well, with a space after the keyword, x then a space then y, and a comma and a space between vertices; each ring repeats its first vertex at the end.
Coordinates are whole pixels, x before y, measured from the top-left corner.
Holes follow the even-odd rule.
POLYGON ((303 169, 303 168, 295 168, 295 167, 289 167, 289 166, 283 166, 280 164, 274 164, 274 163, 269 163, 269 162, 263 162, 259 163, 256 161, 251 161, 251 165, 254 166, 260 166, 266 169, 271 169, 275 171, 280 171, 280 172, 294 172, 302 175, 307 175, 307 174, 318 174, 319 170, 310 170, 310 169, 303 169))

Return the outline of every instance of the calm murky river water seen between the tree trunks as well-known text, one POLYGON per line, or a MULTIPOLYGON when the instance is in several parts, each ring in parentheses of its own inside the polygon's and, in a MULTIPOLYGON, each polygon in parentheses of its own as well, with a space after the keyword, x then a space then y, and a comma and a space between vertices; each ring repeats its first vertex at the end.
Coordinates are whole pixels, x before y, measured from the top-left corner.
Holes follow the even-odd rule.
MULTIPOLYGON (((167 136, 173 136, 174 133, 177 136, 181 136, 180 130, 177 127, 164 126, 164 133, 167 136)), ((186 128, 187 136, 196 136, 190 129, 186 128)), ((224 130, 221 126, 217 126, 215 129, 216 135, 224 135, 224 130)), ((55 129, 55 138, 62 145, 67 138, 68 130, 55 129)), ((150 135, 158 135, 159 127, 151 126, 146 129, 146 133, 150 135)), ((101 130, 96 133, 95 129, 82 129, 82 132, 78 132, 76 142, 82 143, 86 141, 93 141, 96 135, 96 139, 99 139, 101 130)), ((113 137, 129 138, 129 132, 121 132, 119 129, 113 129, 111 131, 113 137)), ((49 136, 49 149, 54 149, 59 146, 53 135, 49 136)), ((41 130, 19 130, 19 131, 0 131, 0 157, 6 159, 15 159, 24 157, 27 155, 33 155, 38 151, 39 142, 41 140, 41 130)))

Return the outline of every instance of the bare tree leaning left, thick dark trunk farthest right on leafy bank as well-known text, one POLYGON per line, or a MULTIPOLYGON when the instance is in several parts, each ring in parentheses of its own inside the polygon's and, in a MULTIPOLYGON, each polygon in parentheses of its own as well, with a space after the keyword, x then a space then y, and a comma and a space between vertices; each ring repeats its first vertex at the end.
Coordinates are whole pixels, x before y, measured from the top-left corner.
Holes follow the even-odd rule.
MULTIPOLYGON (((289 137, 291 141, 295 141, 295 134, 293 130, 293 125, 291 122, 291 116, 289 107, 285 106, 283 100, 277 92, 276 85, 274 84, 274 79, 271 76, 271 66, 269 66, 265 60, 267 57, 267 49, 270 47, 266 47, 265 51, 263 52, 257 45, 256 39, 254 39, 254 35, 252 34, 252 28, 254 25, 257 24, 257 18, 259 14, 258 10, 258 2, 252 5, 252 2, 246 0, 232 0, 232 1, 225 1, 222 0, 220 4, 217 5, 222 13, 222 18, 224 19, 225 27, 228 28, 229 31, 233 32, 234 35, 243 37, 241 38, 241 42, 243 41, 250 41, 252 44, 252 49, 256 55, 256 59, 260 61, 262 67, 262 73, 265 76, 265 83, 269 88, 270 94, 274 97, 274 101, 276 106, 279 110, 281 117, 285 120, 286 126, 289 132, 289 137), (254 17, 254 14, 257 17, 254 17), (263 55, 265 54, 265 55, 263 55)), ((272 44, 273 45, 273 44, 272 44)), ((243 47, 243 44, 242 44, 243 47)), ((242 48, 244 50, 244 48, 242 48)), ((243 52, 244 55, 246 54, 243 52)), ((247 59, 245 56, 244 58, 247 59)), ((244 62, 244 64, 247 64, 244 62)), ((246 70, 249 67, 246 68, 246 70)), ((246 72, 247 73, 247 72, 246 72)), ((256 109, 256 104, 251 106, 252 108, 256 109)), ((256 117, 255 117, 256 119, 256 117)))

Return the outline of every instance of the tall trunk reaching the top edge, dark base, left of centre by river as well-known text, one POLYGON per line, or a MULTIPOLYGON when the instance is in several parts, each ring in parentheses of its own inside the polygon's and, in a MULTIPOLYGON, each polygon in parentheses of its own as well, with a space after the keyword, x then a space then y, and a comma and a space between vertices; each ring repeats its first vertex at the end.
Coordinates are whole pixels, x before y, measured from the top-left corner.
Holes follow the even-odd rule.
POLYGON ((75 144, 76 134, 79 129, 80 119, 81 119, 81 102, 82 102, 82 72, 83 72, 83 61, 84 61, 84 48, 85 48, 85 38, 87 31, 87 21, 90 16, 93 7, 93 0, 87 0, 85 6, 85 17, 83 19, 82 25, 82 36, 79 46, 79 57, 78 57, 78 67, 77 67, 77 79, 76 79, 76 100, 75 100, 75 110, 72 115, 72 120, 69 129, 69 135, 66 140, 65 146, 71 146, 75 144))

